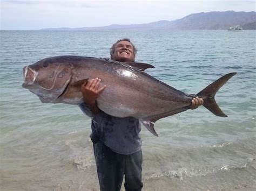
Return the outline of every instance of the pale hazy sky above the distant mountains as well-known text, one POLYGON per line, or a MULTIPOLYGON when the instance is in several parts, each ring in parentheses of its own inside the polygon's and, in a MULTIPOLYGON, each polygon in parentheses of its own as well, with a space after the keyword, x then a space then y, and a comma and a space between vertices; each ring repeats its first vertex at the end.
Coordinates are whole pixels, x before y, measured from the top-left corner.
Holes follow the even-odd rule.
POLYGON ((143 24, 175 20, 192 13, 256 11, 255 1, 233 0, 0 0, 0 30, 39 30, 143 24))

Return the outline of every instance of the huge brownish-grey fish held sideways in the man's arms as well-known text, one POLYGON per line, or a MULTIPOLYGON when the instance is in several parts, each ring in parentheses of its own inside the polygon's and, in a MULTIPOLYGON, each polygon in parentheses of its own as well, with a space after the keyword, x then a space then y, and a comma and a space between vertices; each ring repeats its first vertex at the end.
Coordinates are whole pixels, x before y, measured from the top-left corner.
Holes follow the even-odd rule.
POLYGON ((91 78, 102 79, 106 88, 97 98, 98 107, 116 117, 135 117, 157 136, 154 122, 190 108, 200 96, 204 107, 227 117, 214 100, 215 93, 236 73, 226 74, 198 94, 187 95, 144 72, 152 65, 118 62, 83 56, 55 56, 23 68, 23 88, 36 94, 43 103, 83 103, 80 86, 91 78))

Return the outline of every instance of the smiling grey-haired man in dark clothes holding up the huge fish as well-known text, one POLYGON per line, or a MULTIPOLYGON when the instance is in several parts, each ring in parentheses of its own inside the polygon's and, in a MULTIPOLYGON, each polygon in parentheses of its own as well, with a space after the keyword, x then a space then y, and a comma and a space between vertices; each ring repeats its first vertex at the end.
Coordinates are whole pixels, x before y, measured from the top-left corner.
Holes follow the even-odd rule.
MULTIPOLYGON (((130 39, 120 39, 110 48, 111 59, 133 62, 136 48, 130 39)), ((100 190, 120 190, 125 175, 125 190, 142 190, 142 142, 139 120, 133 117, 118 118, 105 114, 97 107, 96 99, 106 88, 99 88, 100 79, 90 79, 81 87, 84 104, 80 108, 92 117, 93 151, 95 154, 100 190)), ((194 98, 191 109, 203 104, 194 98)))

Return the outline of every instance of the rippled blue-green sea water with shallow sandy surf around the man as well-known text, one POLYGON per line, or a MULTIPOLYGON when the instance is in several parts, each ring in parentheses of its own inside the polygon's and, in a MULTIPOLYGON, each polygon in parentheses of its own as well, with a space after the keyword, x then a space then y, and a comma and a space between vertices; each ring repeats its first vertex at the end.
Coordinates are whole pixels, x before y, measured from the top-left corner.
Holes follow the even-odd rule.
MULTIPOLYGON (((204 107, 160 119, 159 137, 144 127, 144 190, 233 190, 255 185, 256 31, 0 31, 0 189, 99 190, 90 118, 75 105, 43 104, 21 87, 22 68, 56 55, 109 58, 128 37, 147 73, 198 93, 237 72, 204 107)), ((123 190, 124 188, 122 188, 123 190)), ((252 188, 253 189, 253 188, 252 188)))

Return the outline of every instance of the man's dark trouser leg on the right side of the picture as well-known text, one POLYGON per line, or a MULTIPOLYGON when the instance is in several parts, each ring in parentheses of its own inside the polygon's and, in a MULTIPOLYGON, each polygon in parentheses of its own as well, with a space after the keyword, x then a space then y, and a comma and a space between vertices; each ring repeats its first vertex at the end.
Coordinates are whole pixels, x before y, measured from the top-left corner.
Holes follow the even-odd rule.
POLYGON ((125 190, 142 190, 142 150, 125 156, 125 190))

